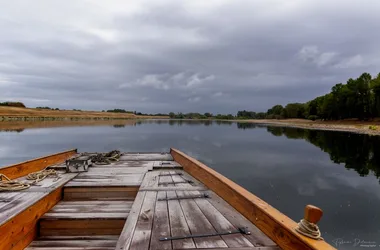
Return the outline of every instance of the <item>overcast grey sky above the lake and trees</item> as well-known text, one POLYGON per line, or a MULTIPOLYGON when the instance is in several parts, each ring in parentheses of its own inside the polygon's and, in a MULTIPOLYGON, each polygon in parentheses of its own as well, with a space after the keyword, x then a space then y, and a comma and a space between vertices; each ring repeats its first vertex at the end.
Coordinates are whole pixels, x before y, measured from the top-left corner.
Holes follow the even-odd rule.
POLYGON ((0 101, 236 113, 380 72, 379 0, 0 0, 0 101))

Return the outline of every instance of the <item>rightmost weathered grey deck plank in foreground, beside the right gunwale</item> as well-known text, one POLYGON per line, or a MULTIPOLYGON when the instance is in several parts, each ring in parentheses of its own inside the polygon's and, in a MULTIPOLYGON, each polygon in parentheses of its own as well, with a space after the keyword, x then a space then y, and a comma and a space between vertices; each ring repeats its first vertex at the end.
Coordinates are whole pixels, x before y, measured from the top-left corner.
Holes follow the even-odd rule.
POLYGON ((208 192, 211 199, 208 201, 214 205, 218 211, 226 217, 233 225, 248 227, 248 230, 251 232, 250 235, 245 237, 252 242, 255 246, 276 246, 276 243, 273 242, 268 236, 266 236, 260 229, 252 224, 248 219, 242 216, 235 208, 230 204, 220 198, 217 194, 210 191, 208 192))

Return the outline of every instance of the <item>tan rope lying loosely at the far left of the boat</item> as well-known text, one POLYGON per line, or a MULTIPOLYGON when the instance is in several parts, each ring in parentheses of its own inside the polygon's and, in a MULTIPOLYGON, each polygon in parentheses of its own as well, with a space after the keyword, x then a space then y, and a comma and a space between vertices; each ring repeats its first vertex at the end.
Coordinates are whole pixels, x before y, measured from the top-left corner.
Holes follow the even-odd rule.
POLYGON ((0 192, 25 190, 25 189, 30 188, 31 185, 36 185, 38 182, 44 180, 45 178, 49 176, 56 177, 56 180, 59 179, 58 173, 54 169, 47 169, 47 168, 41 171, 28 174, 26 176, 26 179, 32 181, 30 183, 11 180, 6 175, 0 174, 0 192))

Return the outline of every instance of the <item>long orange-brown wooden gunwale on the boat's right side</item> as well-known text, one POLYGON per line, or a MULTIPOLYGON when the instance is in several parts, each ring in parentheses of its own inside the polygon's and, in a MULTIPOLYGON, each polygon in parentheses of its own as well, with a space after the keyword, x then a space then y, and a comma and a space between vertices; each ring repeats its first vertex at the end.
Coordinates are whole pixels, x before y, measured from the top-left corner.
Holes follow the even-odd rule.
MULTIPOLYGON (((283 249, 335 249, 295 231, 297 223, 265 201, 186 154, 171 149, 176 162, 222 197, 283 249)), ((302 215, 300 215, 302 217, 302 215)))

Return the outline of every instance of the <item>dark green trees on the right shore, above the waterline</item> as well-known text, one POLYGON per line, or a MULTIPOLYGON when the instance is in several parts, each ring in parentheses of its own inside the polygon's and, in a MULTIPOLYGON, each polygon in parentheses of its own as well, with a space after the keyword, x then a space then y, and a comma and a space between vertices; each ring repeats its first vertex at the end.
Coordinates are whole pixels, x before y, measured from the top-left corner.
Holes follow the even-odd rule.
POLYGON ((239 119, 323 119, 340 120, 358 118, 369 120, 380 116, 380 73, 373 77, 363 73, 331 88, 331 92, 306 103, 275 105, 268 111, 256 113, 239 111, 239 119))

